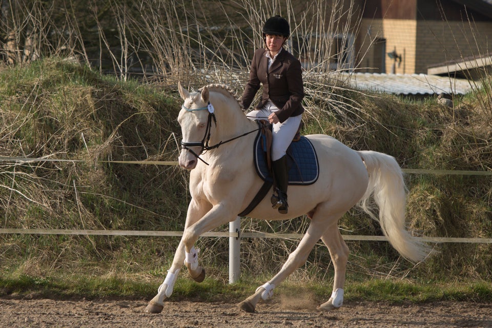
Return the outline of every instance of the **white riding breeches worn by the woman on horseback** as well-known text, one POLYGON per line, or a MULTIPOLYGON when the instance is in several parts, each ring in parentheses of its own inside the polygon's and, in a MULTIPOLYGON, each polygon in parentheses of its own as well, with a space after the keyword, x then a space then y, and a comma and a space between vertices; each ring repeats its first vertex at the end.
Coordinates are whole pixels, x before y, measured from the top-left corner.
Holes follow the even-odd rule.
MULTIPOLYGON (((276 111, 278 111, 278 108, 269 101, 263 108, 255 109, 247 115, 251 120, 268 120, 268 116, 276 111)), ((283 123, 278 122, 273 125, 272 160, 280 159, 285 155, 287 148, 289 148, 292 139, 296 135, 297 129, 299 129, 301 119, 302 115, 291 116, 283 123)))

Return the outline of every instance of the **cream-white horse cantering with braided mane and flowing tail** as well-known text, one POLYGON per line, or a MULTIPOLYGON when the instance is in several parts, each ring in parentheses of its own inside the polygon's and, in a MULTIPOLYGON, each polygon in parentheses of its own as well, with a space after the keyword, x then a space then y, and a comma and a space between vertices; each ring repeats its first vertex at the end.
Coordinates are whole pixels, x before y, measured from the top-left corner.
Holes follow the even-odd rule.
MULTIPOLYGON (((179 165, 190 172, 190 193, 185 230, 173 263, 146 312, 159 313, 173 292, 183 262, 193 279, 202 281, 205 271, 198 265, 194 244, 204 232, 234 221, 261 188, 263 181, 253 164, 253 144, 258 126, 242 112, 235 96, 224 86, 209 85, 201 92, 189 92, 178 83, 184 100, 178 115, 183 145, 179 165), (206 150, 206 151, 204 151, 206 150), (199 157, 198 157, 199 156, 199 157)), ((327 135, 309 135, 320 163, 319 177, 310 186, 290 186, 289 213, 279 214, 265 197, 248 216, 283 220, 308 214, 310 226, 289 255, 282 269, 270 281, 239 303, 254 312, 260 299, 272 297, 273 289, 301 267, 319 239, 333 261, 333 292, 320 310, 333 310, 343 303, 343 285, 348 248, 337 227, 340 217, 359 204, 364 211, 373 195, 379 207, 382 231, 406 259, 422 261, 429 247, 412 237, 405 225, 405 185, 396 160, 374 151, 355 151, 327 135)), ((370 213, 372 214, 372 213, 370 213)))

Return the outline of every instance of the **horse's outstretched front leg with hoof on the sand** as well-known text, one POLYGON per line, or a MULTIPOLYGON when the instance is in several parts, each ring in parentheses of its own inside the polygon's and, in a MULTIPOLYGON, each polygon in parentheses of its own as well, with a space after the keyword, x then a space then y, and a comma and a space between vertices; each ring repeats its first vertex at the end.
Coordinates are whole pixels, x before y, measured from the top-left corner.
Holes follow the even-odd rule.
MULTIPOLYGON (((207 203, 198 203, 194 199, 192 199, 190 205, 188 206, 185 230, 196 221, 198 221, 198 219, 200 219, 205 213, 207 213, 210 208, 211 206, 207 203)), ((157 290, 157 295, 154 296, 154 298, 149 302, 149 304, 145 308, 145 312, 160 313, 162 311, 162 309, 164 308, 164 300, 166 298, 169 298, 173 293, 174 284, 176 283, 176 279, 178 278, 179 271, 183 266, 185 258, 185 243, 183 243, 183 238, 181 237, 178 248, 176 249, 176 253, 174 254, 173 263, 168 271, 166 279, 159 286, 159 289, 157 290)))

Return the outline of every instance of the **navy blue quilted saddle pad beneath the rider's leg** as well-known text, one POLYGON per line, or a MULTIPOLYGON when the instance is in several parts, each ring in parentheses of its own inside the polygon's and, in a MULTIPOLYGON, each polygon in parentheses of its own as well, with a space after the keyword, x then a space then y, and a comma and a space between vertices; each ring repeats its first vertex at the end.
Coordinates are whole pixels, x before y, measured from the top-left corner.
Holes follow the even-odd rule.
MULTIPOLYGON (((264 181, 273 181, 268 171, 266 154, 262 144, 264 137, 259 133, 254 144, 254 161, 256 172, 264 181)), ((316 150, 311 141, 301 136, 299 141, 292 142, 287 149, 289 163, 289 185, 312 185, 319 177, 319 163, 316 150)))

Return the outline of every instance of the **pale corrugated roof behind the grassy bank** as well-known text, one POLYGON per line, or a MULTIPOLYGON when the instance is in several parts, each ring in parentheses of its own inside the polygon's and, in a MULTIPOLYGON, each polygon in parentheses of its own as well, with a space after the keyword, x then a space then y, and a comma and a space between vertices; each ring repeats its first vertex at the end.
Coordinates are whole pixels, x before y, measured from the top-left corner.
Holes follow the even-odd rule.
POLYGON ((347 83, 353 88, 402 95, 465 94, 472 89, 470 81, 466 79, 428 74, 352 73, 342 75, 345 75, 347 83))

